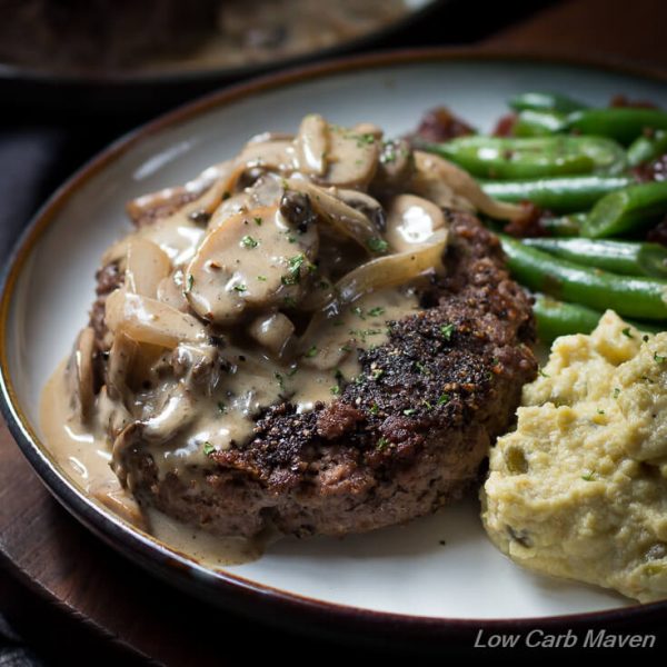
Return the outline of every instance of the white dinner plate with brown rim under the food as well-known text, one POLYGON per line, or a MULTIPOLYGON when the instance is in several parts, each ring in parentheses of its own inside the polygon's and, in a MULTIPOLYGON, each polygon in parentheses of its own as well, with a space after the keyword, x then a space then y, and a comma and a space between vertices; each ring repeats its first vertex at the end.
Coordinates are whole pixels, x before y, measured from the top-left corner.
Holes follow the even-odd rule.
POLYGON ((213 94, 122 139, 81 170, 21 239, 2 298, 6 416, 51 491, 133 560, 198 595, 249 613, 279 603, 273 609, 309 609, 339 620, 366 617, 397 627, 412 623, 450 628, 460 627, 456 619, 545 618, 628 605, 634 608, 624 614, 638 613, 637 605, 613 591, 532 575, 514 565, 486 537, 476 494, 406 526, 344 539, 285 538, 253 563, 207 570, 86 498, 40 442, 40 391, 87 322, 103 250, 130 229, 125 213, 129 199, 185 182, 233 156, 257 132, 293 131, 309 112, 344 126, 371 121, 391 137, 415 128, 427 109, 446 104, 488 130, 507 111, 510 96, 536 89, 561 91, 591 104, 604 106, 624 93, 667 107, 665 83, 638 74, 469 52, 390 53, 326 63, 213 94))

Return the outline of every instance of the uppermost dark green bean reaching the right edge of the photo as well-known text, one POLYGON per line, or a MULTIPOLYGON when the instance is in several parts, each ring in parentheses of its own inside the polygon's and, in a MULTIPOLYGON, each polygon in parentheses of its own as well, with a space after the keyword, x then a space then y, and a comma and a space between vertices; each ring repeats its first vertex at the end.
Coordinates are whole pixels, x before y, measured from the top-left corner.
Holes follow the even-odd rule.
POLYGON ((667 111, 636 107, 584 109, 567 117, 566 128, 581 135, 610 137, 630 143, 645 130, 667 130, 667 111))

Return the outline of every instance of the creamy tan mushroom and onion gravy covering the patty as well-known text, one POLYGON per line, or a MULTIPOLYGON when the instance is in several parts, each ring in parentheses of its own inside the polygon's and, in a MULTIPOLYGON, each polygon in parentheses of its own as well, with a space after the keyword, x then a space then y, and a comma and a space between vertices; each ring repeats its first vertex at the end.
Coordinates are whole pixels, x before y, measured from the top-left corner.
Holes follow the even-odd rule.
POLYGON ((258 544, 140 507, 126 452, 187 480, 249 442, 270 406, 336 400, 361 374, 359 351, 446 270, 449 208, 518 211, 375 126, 317 115, 131 201, 137 229, 102 258, 115 281, 44 389, 47 446, 87 494, 172 546, 180 535, 178 549, 201 558, 212 545, 213 566, 257 557, 258 544))

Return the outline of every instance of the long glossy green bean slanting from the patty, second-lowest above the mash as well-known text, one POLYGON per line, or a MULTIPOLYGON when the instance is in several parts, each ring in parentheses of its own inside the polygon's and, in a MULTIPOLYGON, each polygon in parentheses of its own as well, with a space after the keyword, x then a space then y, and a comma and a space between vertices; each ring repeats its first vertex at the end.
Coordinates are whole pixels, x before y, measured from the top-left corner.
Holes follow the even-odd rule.
POLYGON ((667 285, 660 280, 615 276, 551 257, 506 235, 499 238, 510 271, 534 291, 628 317, 667 319, 667 285))

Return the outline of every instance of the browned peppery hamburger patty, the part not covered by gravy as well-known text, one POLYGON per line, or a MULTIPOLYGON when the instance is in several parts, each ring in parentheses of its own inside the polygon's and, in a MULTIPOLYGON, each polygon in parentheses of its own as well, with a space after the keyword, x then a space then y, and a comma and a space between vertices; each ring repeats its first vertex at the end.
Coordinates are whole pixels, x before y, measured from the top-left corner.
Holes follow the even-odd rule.
MULTIPOLYGON (((159 477, 132 445, 123 467, 138 500, 221 535, 275 526, 305 536, 371 530, 460 497, 537 364, 530 299, 497 238, 469 213, 448 218, 447 275, 422 293, 424 310, 359 352, 357 381, 309 412, 267 408, 250 441, 212 452, 207 467, 159 477)), ((112 275, 99 275, 102 302, 112 275)), ((99 310, 91 323, 101 337, 99 310)))

